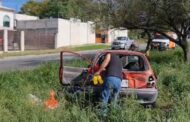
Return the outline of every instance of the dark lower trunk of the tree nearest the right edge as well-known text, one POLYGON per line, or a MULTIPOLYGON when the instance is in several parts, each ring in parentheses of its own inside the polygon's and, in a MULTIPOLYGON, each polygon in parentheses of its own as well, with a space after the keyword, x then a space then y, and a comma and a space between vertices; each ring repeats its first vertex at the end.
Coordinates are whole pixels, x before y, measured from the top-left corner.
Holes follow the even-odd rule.
POLYGON ((181 42, 181 48, 183 49, 184 61, 190 61, 190 51, 187 39, 183 39, 183 41, 181 42))

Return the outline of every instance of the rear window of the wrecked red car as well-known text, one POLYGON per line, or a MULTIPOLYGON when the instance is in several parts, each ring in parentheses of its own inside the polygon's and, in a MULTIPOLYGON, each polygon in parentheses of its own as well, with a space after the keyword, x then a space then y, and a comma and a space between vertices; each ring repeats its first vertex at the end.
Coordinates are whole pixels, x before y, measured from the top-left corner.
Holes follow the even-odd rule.
POLYGON ((145 63, 140 56, 123 56, 121 58, 123 69, 128 71, 144 71, 145 63))

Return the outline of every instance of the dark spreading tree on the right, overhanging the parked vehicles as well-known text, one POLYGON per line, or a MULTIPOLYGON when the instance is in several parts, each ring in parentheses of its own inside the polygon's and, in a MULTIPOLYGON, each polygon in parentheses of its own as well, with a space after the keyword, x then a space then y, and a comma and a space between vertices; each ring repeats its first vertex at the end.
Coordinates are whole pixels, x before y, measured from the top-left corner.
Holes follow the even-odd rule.
POLYGON ((111 7, 113 18, 110 24, 160 33, 183 49, 185 61, 190 60, 186 38, 190 27, 190 0, 107 0, 107 5, 111 7), (166 35, 166 31, 175 32, 178 39, 166 35))

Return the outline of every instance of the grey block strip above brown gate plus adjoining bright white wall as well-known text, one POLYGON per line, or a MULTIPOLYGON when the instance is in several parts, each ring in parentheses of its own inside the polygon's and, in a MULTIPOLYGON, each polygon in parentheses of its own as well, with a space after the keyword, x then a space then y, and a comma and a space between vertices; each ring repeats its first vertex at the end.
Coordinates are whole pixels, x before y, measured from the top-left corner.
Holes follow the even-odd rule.
POLYGON ((95 43, 92 22, 83 23, 65 19, 18 21, 17 29, 57 29, 55 48, 95 43))

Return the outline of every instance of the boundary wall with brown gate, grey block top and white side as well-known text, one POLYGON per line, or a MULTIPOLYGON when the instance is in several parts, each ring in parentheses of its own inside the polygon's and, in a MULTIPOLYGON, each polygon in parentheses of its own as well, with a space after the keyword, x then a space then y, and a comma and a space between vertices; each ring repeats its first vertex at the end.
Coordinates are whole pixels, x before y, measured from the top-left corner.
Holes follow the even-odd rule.
POLYGON ((49 18, 17 22, 17 30, 25 32, 26 49, 54 49, 95 43, 93 22, 49 18))

